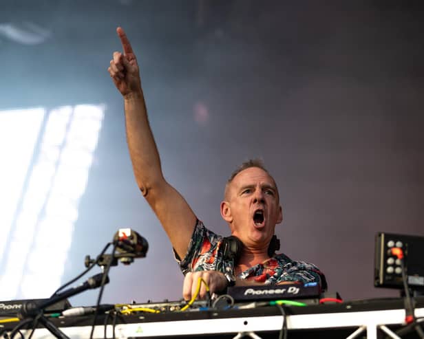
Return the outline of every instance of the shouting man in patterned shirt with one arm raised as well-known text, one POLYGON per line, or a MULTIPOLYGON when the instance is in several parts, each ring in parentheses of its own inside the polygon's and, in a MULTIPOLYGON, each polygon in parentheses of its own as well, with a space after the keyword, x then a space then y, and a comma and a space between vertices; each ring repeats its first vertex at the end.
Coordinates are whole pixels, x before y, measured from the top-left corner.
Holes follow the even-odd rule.
MULTIPOLYGON (((189 300, 202 278, 211 292, 228 285, 317 281, 325 277, 315 265, 292 261, 277 250, 273 234, 283 219, 273 177, 257 161, 246 162, 226 184, 222 218, 242 245, 237 258, 226 256, 228 241, 206 229, 184 197, 162 175, 160 157, 147 118, 136 56, 122 28, 116 32, 123 53, 114 52, 108 72, 124 98, 129 154, 136 182, 173 245, 185 275, 183 297, 189 300), (271 244, 271 245, 270 245, 271 244)), ((231 247, 231 246, 230 246, 231 247)), ((204 298, 204 284, 200 298, 204 298)))

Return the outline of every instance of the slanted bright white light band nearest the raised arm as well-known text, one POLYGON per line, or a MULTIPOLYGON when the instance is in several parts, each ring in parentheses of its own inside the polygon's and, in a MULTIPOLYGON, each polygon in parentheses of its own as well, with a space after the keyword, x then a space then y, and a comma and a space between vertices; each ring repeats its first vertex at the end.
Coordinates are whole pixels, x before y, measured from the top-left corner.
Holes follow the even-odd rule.
MULTIPOLYGON (((14 232, 8 236, 10 245, 0 276, 0 300, 43 298, 59 287, 103 112, 102 105, 67 106, 50 111, 19 210, 21 189, 17 190, 13 208, 17 210, 16 222, 12 225, 13 213, 8 219, 8 230, 14 226, 14 232)), ((18 129, 19 126, 10 127, 9 131, 14 133, 18 129)), ((32 134, 36 135, 34 131, 32 134)), ((22 147, 27 153, 28 143, 22 147)), ((10 141, 5 139, 2 144, 10 141)), ((30 144, 35 144, 34 140, 30 144)), ((25 171, 20 173, 21 182, 29 165, 27 160, 25 171)), ((6 239, 3 235, 1 238, 6 239)))

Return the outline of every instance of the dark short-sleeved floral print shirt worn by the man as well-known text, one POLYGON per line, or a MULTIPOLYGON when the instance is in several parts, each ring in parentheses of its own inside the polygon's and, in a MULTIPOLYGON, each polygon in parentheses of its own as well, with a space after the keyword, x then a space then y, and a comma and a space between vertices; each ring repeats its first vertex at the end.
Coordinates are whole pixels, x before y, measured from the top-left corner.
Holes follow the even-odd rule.
MULTIPOLYGON (((202 223, 197 221, 189 248, 184 259, 176 260, 182 273, 216 270, 234 274, 234 262, 224 259, 220 245, 222 237, 208 230, 202 223)), ((259 263, 240 273, 237 278, 248 279, 264 283, 264 285, 278 285, 286 281, 294 283, 317 282, 321 289, 327 288, 324 274, 312 263, 293 261, 285 254, 275 254, 271 259, 259 263)))

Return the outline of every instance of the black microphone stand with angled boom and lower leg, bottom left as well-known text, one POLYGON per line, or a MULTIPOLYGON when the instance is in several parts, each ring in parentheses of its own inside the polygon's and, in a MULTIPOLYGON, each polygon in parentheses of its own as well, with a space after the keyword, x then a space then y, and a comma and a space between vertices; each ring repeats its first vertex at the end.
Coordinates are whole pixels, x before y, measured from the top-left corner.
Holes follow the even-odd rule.
MULTIPOLYGON (((21 320, 32 318, 36 322, 41 322, 41 324, 44 325, 44 327, 48 329, 50 333, 52 333, 52 335, 56 338, 70 339, 68 336, 65 335, 65 333, 63 333, 58 327, 56 327, 56 325, 54 325, 53 322, 48 320, 43 315, 43 309, 45 309, 45 307, 58 303, 59 301, 63 299, 69 298, 70 296, 74 296, 78 293, 84 292, 87 289, 93 289, 93 288, 99 287, 102 283, 102 279, 103 279, 103 273, 99 273, 99 274, 96 274, 95 276, 92 276, 91 278, 88 278, 87 281, 85 281, 85 283, 79 286, 67 289, 65 292, 62 292, 60 294, 56 294, 56 296, 52 296, 52 298, 50 298, 49 300, 41 304, 37 304, 34 301, 28 301, 28 303, 25 303, 22 306, 22 309, 21 311, 19 311, 18 316, 19 318, 21 318, 21 320)), ((105 279, 105 284, 107 283, 109 283, 108 276, 106 276, 106 279, 105 279)))

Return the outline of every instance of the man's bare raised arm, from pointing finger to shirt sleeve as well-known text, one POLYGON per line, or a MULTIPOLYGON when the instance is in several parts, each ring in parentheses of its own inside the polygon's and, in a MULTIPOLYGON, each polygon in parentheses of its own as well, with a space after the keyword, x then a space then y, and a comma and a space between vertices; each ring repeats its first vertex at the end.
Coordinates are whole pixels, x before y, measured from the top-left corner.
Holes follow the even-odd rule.
POLYGON ((147 118, 136 55, 124 30, 117 28, 116 32, 123 45, 123 53, 114 52, 107 70, 124 98, 125 129, 136 182, 182 259, 187 252, 196 217, 184 197, 163 177, 158 149, 147 118))

